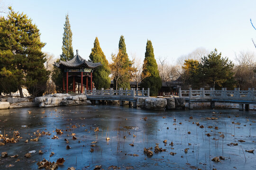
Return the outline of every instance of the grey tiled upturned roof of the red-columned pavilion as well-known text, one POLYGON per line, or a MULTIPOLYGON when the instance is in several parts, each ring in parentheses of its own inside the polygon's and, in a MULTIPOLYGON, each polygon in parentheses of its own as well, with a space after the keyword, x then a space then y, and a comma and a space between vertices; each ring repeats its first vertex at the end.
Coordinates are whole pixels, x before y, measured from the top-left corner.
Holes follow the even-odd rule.
POLYGON ((101 66, 101 63, 86 61, 78 54, 78 50, 76 50, 76 55, 73 59, 68 61, 59 60, 57 63, 55 62, 54 65, 57 68, 97 68, 101 66))

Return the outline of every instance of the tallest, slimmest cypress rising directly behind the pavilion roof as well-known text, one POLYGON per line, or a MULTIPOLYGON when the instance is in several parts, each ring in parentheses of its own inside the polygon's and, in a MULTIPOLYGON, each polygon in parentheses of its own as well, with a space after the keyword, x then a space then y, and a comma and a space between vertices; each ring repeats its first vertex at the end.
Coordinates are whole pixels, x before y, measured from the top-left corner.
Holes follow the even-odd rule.
POLYGON ((66 20, 64 24, 62 44, 62 54, 60 55, 60 59, 63 61, 72 59, 74 57, 74 53, 72 47, 72 31, 69 24, 68 14, 66 15, 66 20))

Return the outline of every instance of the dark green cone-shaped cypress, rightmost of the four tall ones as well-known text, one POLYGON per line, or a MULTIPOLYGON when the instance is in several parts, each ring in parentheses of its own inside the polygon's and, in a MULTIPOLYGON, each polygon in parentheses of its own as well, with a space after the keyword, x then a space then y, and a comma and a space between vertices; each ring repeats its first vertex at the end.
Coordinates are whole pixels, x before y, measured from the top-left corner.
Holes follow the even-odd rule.
POLYGON ((149 74, 150 76, 146 77, 141 82, 141 87, 150 88, 150 95, 156 96, 158 90, 162 87, 162 80, 159 76, 159 71, 157 69, 157 64, 154 55, 154 49, 152 42, 147 40, 146 42, 146 52, 144 59, 145 67, 143 68, 142 74, 149 74))

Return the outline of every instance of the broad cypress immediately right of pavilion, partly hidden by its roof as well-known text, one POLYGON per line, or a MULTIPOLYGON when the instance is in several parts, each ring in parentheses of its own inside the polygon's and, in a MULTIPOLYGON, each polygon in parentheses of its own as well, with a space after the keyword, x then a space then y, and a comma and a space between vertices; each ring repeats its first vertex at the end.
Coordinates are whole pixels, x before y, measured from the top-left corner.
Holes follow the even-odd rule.
POLYGON ((95 38, 94 46, 89 56, 92 62, 101 62, 102 66, 93 70, 93 82, 97 89, 110 87, 110 67, 104 52, 101 50, 98 37, 95 38))

